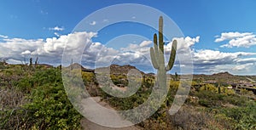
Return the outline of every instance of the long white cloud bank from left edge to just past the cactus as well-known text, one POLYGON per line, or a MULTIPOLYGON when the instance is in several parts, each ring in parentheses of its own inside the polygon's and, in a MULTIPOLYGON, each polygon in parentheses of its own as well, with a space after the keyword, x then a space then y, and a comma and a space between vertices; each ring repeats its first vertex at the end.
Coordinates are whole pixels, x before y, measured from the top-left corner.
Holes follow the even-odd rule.
MULTIPOLYGON (((64 47, 67 53, 67 62, 79 61, 78 52, 83 52, 81 48, 87 44, 82 56, 82 64, 88 67, 94 65, 103 66, 109 64, 137 65, 142 70, 151 68, 149 48, 153 47, 152 41, 142 41, 138 44, 131 43, 125 48, 108 48, 100 42, 92 42, 91 38, 96 37, 93 32, 74 32, 68 35, 52 37, 46 39, 22 39, 12 38, 4 39, 0 44, 0 59, 23 60, 30 57, 38 57, 41 63, 60 64, 64 47)), ((189 49, 195 42, 196 38, 179 38, 178 49, 189 49)), ((166 59, 170 55, 172 42, 165 45, 166 59)))

